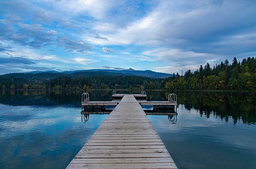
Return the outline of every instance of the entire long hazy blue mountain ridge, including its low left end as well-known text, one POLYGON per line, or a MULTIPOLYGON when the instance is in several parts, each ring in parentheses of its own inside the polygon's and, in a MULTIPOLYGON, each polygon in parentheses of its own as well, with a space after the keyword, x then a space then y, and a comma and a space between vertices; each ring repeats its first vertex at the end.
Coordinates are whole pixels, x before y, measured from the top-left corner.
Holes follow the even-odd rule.
MULTIPOLYGON (((166 77, 172 77, 173 74, 168 73, 160 73, 160 72, 154 72, 152 70, 134 70, 132 68, 130 69, 124 69, 124 70, 111 70, 111 69, 89 69, 89 70, 74 70, 74 71, 64 71, 64 72, 57 72, 57 71, 33 71, 28 73, 61 73, 61 74, 80 74, 80 75, 88 74, 89 72, 99 72, 98 74, 103 75, 136 75, 136 76, 144 76, 144 77, 151 77, 151 78, 166 78, 166 77), (105 73, 104 73, 105 72, 105 73)), ((97 74, 97 73, 93 73, 97 74)))

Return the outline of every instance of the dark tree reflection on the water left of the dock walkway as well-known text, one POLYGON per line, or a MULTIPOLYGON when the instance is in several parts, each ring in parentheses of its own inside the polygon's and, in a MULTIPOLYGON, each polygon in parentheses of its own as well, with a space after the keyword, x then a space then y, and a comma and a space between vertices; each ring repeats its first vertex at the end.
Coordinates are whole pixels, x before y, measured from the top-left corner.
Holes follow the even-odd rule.
MULTIPOLYGON (((60 105, 80 106, 82 91, 76 90, 3 90, 0 103, 9 105, 60 105)), ((91 101, 110 101, 112 91, 90 91, 91 101)))

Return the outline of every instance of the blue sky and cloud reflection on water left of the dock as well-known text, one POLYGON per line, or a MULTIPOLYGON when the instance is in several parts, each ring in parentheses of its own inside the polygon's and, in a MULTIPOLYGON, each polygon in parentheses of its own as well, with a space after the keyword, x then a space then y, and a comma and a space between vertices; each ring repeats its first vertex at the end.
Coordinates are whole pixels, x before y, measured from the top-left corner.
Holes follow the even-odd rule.
POLYGON ((0 104, 0 167, 66 167, 108 116, 91 115, 81 123, 80 110, 70 105, 0 104))

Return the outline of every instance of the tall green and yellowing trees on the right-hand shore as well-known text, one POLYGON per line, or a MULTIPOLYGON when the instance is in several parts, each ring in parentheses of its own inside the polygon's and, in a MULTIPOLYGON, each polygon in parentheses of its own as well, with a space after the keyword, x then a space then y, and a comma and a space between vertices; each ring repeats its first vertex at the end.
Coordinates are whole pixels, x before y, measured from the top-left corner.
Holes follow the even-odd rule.
POLYGON ((192 89, 192 90, 255 90, 255 65, 254 58, 243 59, 242 63, 236 58, 232 65, 228 60, 210 68, 207 63, 203 69, 201 65, 199 70, 194 73, 191 70, 185 72, 184 76, 170 78, 165 83, 165 89, 192 89))

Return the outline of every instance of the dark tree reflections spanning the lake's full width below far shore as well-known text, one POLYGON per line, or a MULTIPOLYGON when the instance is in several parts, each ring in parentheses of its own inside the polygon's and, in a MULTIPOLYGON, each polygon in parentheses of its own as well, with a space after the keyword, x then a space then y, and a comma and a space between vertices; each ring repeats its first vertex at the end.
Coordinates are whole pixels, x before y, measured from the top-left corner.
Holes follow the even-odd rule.
MULTIPOLYGON (((137 94, 140 91, 116 91, 117 93, 137 94)), ((178 103, 188 110, 194 108, 200 115, 209 118, 218 116, 226 122, 242 120, 256 124, 255 93, 242 92, 191 92, 191 91, 146 91, 147 100, 166 101, 169 93, 176 93, 178 103)), ((76 90, 35 90, 35 91, 0 91, 0 103, 9 105, 60 105, 81 106, 82 91, 76 90)), ((89 91, 91 101, 110 101, 112 91, 89 91)), ((179 105, 178 105, 179 106, 179 105)))

